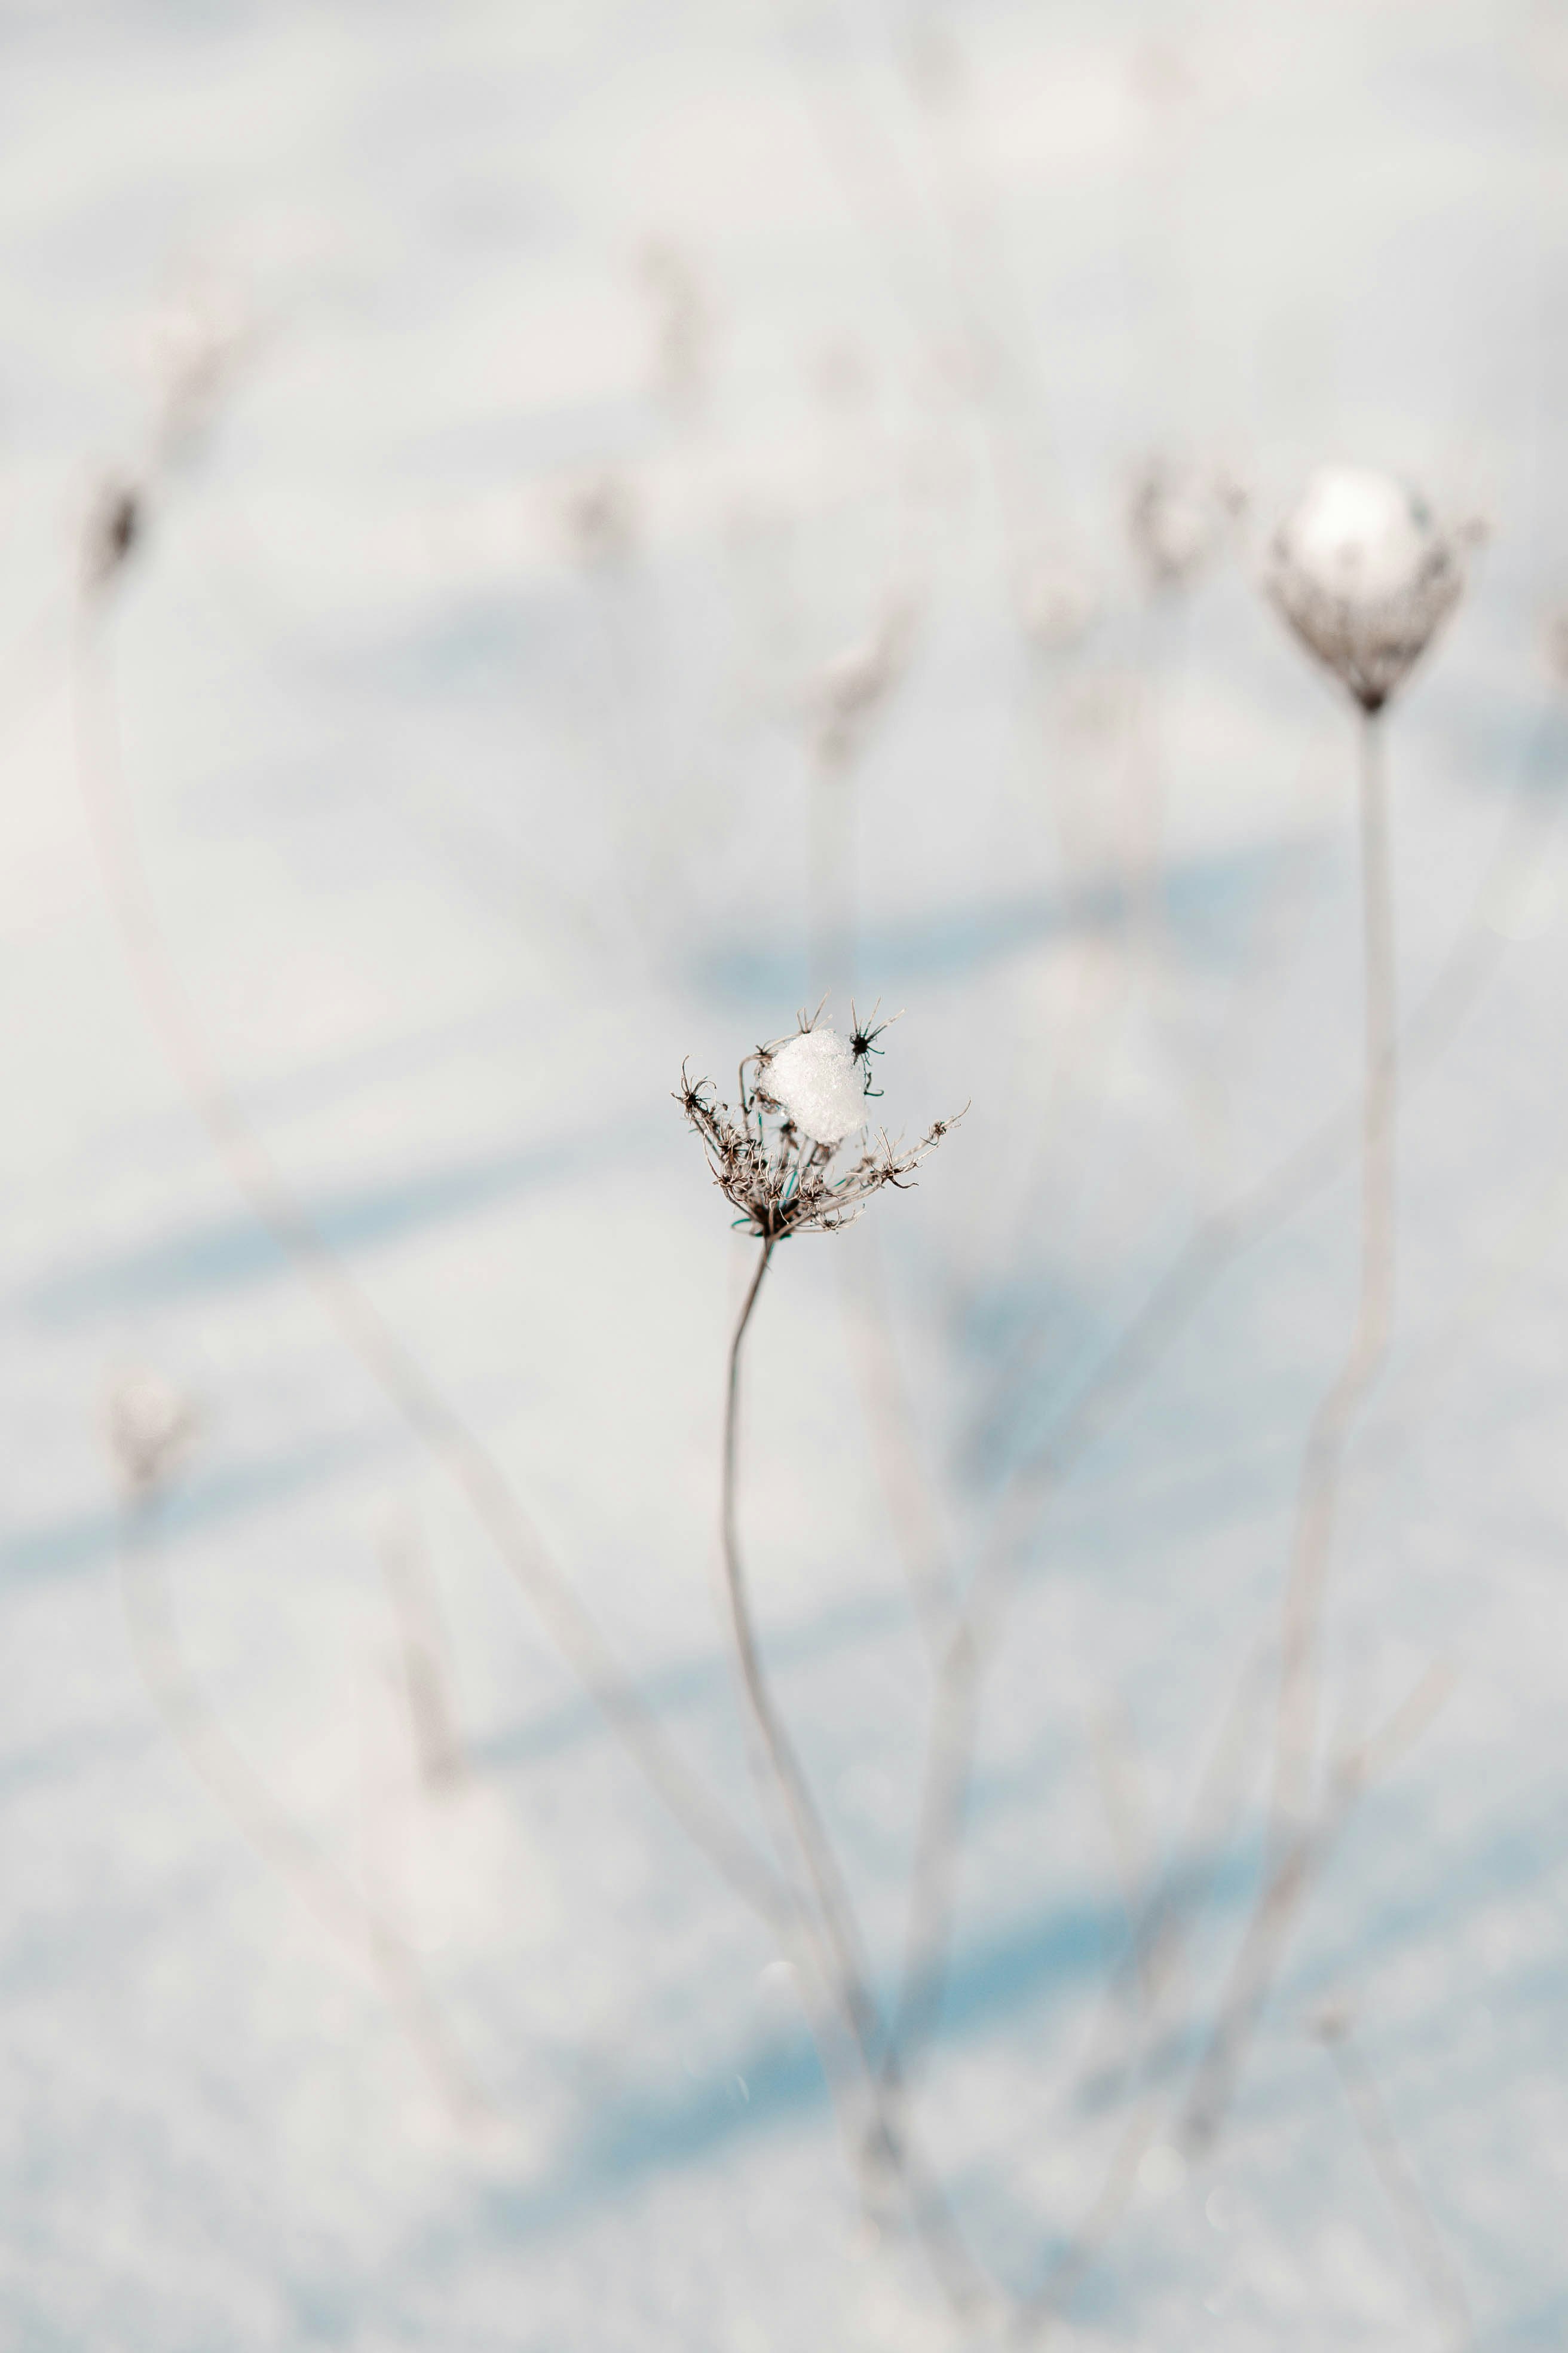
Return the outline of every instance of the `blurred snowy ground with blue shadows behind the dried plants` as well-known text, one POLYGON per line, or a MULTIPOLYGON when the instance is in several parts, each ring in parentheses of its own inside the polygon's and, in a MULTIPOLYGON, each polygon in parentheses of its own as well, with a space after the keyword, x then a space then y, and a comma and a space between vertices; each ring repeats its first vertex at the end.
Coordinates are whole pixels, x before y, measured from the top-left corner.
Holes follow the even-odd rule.
POLYGON ((778 1941, 235 1191, 155 981, 762 1842, 752 1245, 670 1094, 792 1028, 853 878, 889 1127, 971 1111, 778 1254, 743 1515, 884 1991, 910 1555, 961 1584, 1100 1400, 985 1687, 954 2212, 1027 2294, 1135 2094, 1058 2341, 1561 2344, 1563 7, 12 0, 0 120, 0 2339, 992 2341, 863 2214, 778 1941), (1234 1694, 1354 1308, 1342 1132, 1258 1193, 1361 1052, 1354 715, 1255 588, 1321 459, 1490 527, 1392 713, 1425 1028, 1328 1617, 1335 1737, 1443 1706, 1199 2155, 1234 1694), (195 1428, 122 1560, 143 1369, 195 1428), (1128 2082, 1128 1922, 1215 1788, 1128 2082))

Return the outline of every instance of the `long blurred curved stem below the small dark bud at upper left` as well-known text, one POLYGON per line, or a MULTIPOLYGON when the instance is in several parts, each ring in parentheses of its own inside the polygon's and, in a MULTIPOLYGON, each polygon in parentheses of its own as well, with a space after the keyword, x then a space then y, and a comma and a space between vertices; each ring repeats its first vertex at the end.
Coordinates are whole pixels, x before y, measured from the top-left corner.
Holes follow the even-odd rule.
POLYGON ((165 948, 162 927, 136 856, 122 795, 106 680, 94 664, 92 607, 82 612, 73 715, 78 769, 103 887, 148 1019, 202 1120, 223 1167, 256 1221, 306 1280, 341 1339, 397 1407, 414 1435, 465 1494, 496 1553, 538 1612, 590 1701, 637 1760, 670 1814, 729 1885, 771 1927, 788 1918, 788 1892, 729 1812, 675 1753, 646 1701, 628 1685, 604 1635, 548 1558, 510 1480, 489 1447, 447 1405, 418 1360, 383 1322, 320 1238, 254 1125, 219 1078, 190 1000, 165 948), (96 692, 94 692, 96 687, 96 692))

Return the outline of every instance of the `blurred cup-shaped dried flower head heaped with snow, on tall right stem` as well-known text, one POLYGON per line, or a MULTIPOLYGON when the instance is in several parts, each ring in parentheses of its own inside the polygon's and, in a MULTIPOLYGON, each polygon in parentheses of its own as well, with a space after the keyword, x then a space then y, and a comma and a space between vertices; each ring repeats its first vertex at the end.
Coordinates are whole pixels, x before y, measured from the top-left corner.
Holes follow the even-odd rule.
POLYGON ((1321 466, 1274 536, 1267 593, 1361 708, 1382 711, 1458 605, 1472 536, 1389 473, 1321 466))

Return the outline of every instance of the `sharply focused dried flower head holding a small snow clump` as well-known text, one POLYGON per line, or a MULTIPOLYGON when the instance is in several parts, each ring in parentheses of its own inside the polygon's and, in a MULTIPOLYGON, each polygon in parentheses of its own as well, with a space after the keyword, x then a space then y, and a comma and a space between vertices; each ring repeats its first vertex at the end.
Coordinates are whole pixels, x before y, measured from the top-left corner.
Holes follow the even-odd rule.
POLYGON ((856 1021, 853 1035, 842 1038, 802 1014, 790 1038, 745 1056, 733 1106, 719 1104, 708 1080, 691 1082, 682 1068, 675 1099, 703 1139, 715 1184, 741 1212, 736 1224, 757 1240, 837 1233, 853 1224, 882 1186, 903 1188, 954 1125, 936 1120, 914 1146, 877 1134, 853 1158, 842 1158, 851 1139, 865 1136, 870 1056, 882 1052, 884 1028, 872 1014, 870 1026, 856 1021))

